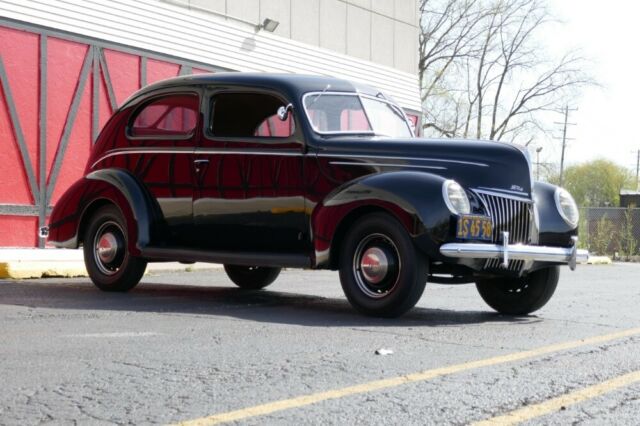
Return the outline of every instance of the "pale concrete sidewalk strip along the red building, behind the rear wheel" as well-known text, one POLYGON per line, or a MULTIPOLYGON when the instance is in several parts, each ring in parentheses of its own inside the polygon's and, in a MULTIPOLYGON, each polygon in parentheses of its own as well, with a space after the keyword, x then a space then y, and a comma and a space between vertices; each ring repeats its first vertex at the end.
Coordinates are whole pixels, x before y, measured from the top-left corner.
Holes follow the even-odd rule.
MULTIPOLYGON (((150 263, 147 274, 162 271, 192 271, 221 268, 214 263, 150 263)), ((0 248, 0 279, 86 277, 82 250, 0 248)))

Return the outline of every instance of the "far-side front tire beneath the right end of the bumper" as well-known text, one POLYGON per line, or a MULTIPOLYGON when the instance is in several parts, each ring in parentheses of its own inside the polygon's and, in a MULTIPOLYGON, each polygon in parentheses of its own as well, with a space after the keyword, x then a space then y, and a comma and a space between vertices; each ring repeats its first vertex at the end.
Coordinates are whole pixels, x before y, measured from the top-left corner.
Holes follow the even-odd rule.
POLYGON ((476 282, 482 299, 501 314, 527 315, 542 308, 558 286, 560 267, 539 269, 519 278, 493 278, 476 282))

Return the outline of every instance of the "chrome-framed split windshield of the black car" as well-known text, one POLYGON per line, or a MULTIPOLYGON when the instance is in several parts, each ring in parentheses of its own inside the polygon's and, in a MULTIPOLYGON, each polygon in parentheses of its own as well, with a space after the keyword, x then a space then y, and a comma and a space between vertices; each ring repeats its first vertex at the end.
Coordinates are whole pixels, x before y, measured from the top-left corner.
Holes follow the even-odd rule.
POLYGON ((396 105, 357 93, 307 93, 304 109, 313 129, 321 134, 371 134, 413 137, 396 105))

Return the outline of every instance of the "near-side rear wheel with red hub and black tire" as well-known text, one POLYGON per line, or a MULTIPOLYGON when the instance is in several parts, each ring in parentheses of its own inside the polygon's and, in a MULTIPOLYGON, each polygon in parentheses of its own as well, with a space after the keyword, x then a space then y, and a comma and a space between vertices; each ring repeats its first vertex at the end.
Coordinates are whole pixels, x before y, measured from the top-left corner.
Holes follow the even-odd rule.
POLYGON ((114 205, 98 209, 84 233, 84 264, 91 281, 103 291, 129 291, 139 282, 147 261, 129 253, 127 224, 114 205))

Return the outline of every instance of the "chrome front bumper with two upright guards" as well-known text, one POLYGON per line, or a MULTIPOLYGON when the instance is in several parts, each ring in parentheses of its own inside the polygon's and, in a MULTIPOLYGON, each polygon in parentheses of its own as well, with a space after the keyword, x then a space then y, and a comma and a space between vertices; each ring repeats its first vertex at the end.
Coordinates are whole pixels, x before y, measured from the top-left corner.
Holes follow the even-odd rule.
POLYGON ((577 262, 586 262, 589 258, 587 250, 577 248, 578 237, 572 237, 573 247, 527 246, 523 244, 509 244, 509 235, 503 235, 504 243, 448 243, 440 246, 440 253, 447 257, 460 259, 502 259, 507 266, 509 259, 533 260, 539 262, 567 263, 571 270, 576 268, 577 262))

